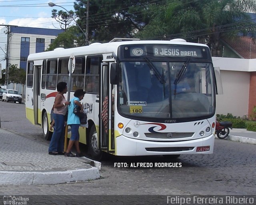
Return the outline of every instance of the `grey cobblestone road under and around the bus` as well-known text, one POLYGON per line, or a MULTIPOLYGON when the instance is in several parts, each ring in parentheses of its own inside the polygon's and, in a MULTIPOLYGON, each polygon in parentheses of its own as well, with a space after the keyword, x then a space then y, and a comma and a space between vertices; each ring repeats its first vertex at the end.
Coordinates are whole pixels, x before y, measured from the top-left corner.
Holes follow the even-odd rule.
MULTIPOLYGON (((43 141, 41 129, 24 119, 24 105, 0 102, 2 127, 43 141), (15 117, 5 116, 15 113, 15 117), (4 114, 5 113, 5 114, 4 114)), ((212 155, 110 157, 102 162, 101 178, 60 185, 0 186, 0 195, 246 195, 256 193, 256 146, 216 139, 212 155), (179 162, 178 168, 117 168, 115 162, 179 162)))

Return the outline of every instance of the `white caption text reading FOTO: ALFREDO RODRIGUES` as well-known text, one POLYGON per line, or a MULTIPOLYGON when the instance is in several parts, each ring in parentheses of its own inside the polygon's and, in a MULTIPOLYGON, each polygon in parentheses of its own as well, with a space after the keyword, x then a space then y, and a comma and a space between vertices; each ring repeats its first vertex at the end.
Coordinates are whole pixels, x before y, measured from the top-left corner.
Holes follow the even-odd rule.
POLYGON ((115 162, 114 167, 182 167, 181 162, 132 162, 132 163, 127 163, 127 162, 115 162))

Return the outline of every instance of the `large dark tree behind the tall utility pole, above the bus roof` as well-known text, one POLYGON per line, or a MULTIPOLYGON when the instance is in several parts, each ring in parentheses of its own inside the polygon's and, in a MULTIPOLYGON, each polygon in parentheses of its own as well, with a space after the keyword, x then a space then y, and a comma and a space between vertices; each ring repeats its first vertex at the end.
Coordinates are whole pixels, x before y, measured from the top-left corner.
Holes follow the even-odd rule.
MULTIPOLYGON (((134 33, 148 24, 151 16, 145 15, 148 0, 90 0, 89 32, 92 41, 109 41, 113 38, 133 38, 134 33)), ((157 1, 157 5, 166 1, 157 1)), ((74 9, 78 24, 86 30, 87 0, 76 0, 74 9)))

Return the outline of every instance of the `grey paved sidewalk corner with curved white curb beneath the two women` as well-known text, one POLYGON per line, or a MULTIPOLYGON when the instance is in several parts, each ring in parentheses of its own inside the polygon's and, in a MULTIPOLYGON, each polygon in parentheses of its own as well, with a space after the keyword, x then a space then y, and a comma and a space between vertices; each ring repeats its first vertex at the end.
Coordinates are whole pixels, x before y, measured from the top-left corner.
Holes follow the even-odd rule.
POLYGON ((58 184, 100 177, 100 162, 49 155, 48 146, 0 128, 0 185, 58 184))

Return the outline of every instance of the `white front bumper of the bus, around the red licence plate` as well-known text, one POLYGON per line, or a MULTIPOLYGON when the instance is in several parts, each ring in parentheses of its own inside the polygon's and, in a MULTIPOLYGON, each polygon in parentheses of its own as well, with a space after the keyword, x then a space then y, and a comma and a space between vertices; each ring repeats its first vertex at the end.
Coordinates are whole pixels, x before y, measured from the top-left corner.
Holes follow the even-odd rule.
POLYGON ((116 137, 116 155, 179 155, 179 154, 212 154, 214 135, 187 141, 145 141, 120 135, 116 137), (208 151, 196 151, 197 147, 210 146, 208 151))

